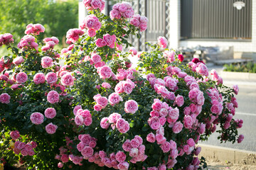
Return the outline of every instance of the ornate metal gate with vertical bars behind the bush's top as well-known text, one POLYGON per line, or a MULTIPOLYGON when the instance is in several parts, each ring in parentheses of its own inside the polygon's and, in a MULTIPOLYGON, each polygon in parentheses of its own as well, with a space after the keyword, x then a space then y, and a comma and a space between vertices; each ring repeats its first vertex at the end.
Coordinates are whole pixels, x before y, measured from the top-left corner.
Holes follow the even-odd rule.
MULTIPOLYGON (((146 31, 140 34, 140 38, 134 35, 131 38, 132 45, 139 51, 148 50, 145 42, 156 42, 159 36, 169 38, 169 0, 127 0, 132 4, 134 13, 139 13, 149 19, 146 31)), ((114 3, 107 1, 107 13, 112 10, 114 3)))

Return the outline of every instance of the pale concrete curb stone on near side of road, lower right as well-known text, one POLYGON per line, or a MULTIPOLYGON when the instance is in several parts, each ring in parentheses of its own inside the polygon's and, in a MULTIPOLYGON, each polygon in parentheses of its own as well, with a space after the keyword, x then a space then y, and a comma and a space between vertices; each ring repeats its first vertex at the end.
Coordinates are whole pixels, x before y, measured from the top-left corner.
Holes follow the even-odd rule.
POLYGON ((256 152, 230 149, 227 147, 216 147, 213 145, 200 144, 198 146, 202 148, 198 157, 214 159, 220 162, 231 162, 233 164, 256 165, 256 152))

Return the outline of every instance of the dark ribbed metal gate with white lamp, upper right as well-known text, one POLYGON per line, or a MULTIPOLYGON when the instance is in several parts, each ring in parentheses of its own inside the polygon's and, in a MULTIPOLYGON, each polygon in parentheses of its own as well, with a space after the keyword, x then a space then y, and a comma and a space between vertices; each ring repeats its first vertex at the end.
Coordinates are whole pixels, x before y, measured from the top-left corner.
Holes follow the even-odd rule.
POLYGON ((251 39, 252 0, 181 0, 181 37, 251 39))

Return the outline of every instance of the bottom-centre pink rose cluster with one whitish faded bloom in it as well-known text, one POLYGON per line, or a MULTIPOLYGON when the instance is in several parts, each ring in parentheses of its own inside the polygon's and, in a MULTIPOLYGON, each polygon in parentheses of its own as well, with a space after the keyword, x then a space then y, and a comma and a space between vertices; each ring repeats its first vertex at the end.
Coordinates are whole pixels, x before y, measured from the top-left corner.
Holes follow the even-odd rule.
POLYGON ((147 158, 145 154, 145 145, 142 145, 142 137, 136 135, 132 140, 126 140, 122 145, 124 151, 129 152, 129 156, 132 157, 130 162, 136 164, 136 162, 144 162, 147 158))

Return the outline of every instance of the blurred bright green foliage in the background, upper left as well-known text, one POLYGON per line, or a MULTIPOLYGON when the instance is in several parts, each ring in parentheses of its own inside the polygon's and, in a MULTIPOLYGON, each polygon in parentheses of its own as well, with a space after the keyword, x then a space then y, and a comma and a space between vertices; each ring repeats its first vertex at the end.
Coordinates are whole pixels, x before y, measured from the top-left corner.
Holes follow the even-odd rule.
POLYGON ((78 26, 78 1, 1 0, 0 21, 0 33, 12 33, 16 40, 21 39, 28 23, 46 27, 41 38, 62 40, 69 28, 78 26))

